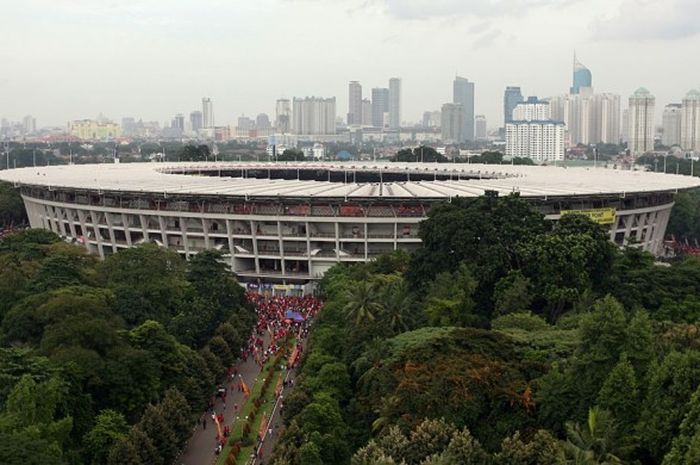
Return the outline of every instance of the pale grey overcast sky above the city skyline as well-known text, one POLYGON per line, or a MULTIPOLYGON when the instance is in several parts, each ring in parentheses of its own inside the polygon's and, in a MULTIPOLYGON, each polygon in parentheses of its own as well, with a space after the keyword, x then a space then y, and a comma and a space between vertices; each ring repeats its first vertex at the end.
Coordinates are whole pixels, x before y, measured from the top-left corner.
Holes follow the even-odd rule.
POLYGON ((306 95, 345 116, 349 80, 369 97, 398 76, 413 122, 458 74, 496 127, 507 85, 567 92, 574 50, 596 91, 662 107, 700 87, 698 18, 700 0, 2 0, 0 116, 162 122, 209 96, 235 124, 306 95))

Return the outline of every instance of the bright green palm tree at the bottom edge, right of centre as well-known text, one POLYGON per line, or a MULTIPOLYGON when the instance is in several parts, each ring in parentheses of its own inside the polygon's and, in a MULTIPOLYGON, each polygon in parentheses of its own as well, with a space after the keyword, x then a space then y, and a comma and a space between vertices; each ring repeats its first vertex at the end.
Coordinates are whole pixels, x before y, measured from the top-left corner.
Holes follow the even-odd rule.
POLYGON ((592 407, 585 426, 566 423, 564 447, 572 465, 618 465, 622 461, 611 451, 615 444, 615 422, 607 410, 592 407))

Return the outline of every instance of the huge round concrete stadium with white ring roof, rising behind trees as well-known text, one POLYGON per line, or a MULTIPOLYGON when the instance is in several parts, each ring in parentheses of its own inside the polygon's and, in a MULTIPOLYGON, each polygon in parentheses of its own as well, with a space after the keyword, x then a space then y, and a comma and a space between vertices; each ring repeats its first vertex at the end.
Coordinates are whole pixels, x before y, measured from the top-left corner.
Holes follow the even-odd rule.
POLYGON ((34 228, 104 257, 153 242, 222 251, 244 282, 302 284, 337 262, 420 246, 436 202, 519 193, 551 220, 582 212, 610 240, 663 252, 676 192, 700 179, 644 171, 428 163, 123 163, 20 168, 34 228))

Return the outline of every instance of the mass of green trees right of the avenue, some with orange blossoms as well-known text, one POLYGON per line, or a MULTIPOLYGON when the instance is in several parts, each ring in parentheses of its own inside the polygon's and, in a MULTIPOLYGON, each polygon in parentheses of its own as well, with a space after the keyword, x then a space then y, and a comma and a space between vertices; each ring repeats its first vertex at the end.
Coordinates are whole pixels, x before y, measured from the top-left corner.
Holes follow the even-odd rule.
POLYGON ((324 276, 270 463, 700 463, 699 260, 517 196, 454 200, 420 234, 324 276))

